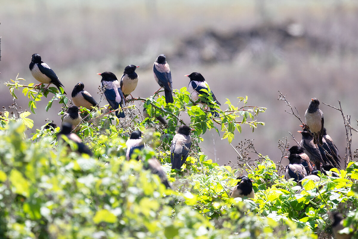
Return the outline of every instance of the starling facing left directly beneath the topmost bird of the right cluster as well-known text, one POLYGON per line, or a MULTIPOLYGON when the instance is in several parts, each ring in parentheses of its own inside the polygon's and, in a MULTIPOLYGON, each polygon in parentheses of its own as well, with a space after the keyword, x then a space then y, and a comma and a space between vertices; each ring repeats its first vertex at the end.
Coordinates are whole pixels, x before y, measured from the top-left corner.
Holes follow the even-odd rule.
POLYGON ((321 170, 321 164, 325 164, 325 162, 322 159, 318 145, 313 143, 313 136, 306 130, 297 132, 302 134, 301 146, 305 149, 305 153, 314 162, 316 168, 321 170))

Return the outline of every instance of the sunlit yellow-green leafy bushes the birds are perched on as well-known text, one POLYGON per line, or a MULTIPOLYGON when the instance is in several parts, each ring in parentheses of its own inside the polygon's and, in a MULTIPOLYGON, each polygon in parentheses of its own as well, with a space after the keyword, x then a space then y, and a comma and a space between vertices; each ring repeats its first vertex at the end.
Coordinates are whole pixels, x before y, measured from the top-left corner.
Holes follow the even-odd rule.
MULTIPOLYGON (((29 88, 17 81, 17 87, 29 88)), ((18 88, 12 89, 14 94, 18 88)), ((338 172, 339 178, 321 176, 320 182, 307 181, 301 188, 284 180, 276 165, 263 157, 256 166, 244 168, 255 181, 255 199, 230 198, 238 170, 208 159, 198 147, 200 136, 214 129, 231 142, 242 125, 252 129, 263 125, 255 117, 265 108, 247 106, 247 97, 239 97, 243 106, 227 100, 226 110, 217 109, 218 118, 189 95, 185 87, 175 90, 174 104, 169 105, 163 96, 138 99, 152 117, 145 119, 141 105, 130 103, 125 107, 128 117, 121 121, 104 107, 81 109, 83 120, 76 133, 88 143, 93 157, 70 152, 56 142, 59 127, 44 125, 27 137, 23 119, 30 113, 9 118, 4 110, 0 115, 0 237, 317 238, 317 234, 332 233, 327 212, 333 208, 347 212, 347 223, 357 225, 358 163, 354 162, 347 171, 338 172), (170 169, 169 145, 177 126, 184 124, 184 114, 195 131, 191 153, 179 172, 170 169), (166 118, 167 126, 156 123, 158 115, 166 118), (125 140, 135 129, 144 132, 148 147, 139 152, 141 161, 126 161, 125 140), (142 164, 154 156, 174 190, 143 169, 142 164)))

